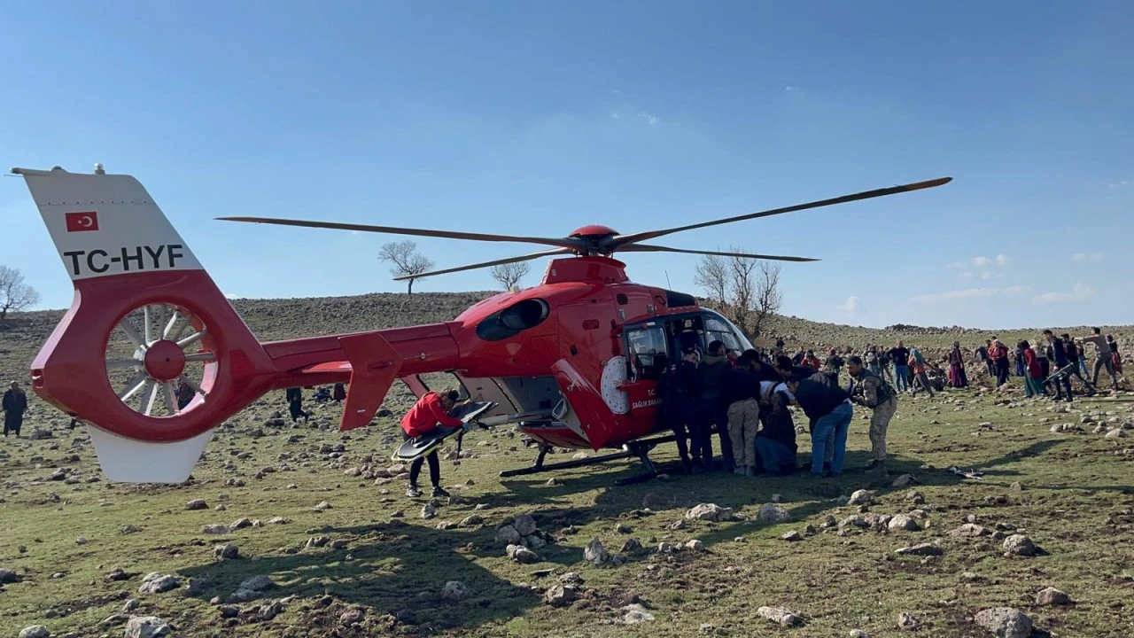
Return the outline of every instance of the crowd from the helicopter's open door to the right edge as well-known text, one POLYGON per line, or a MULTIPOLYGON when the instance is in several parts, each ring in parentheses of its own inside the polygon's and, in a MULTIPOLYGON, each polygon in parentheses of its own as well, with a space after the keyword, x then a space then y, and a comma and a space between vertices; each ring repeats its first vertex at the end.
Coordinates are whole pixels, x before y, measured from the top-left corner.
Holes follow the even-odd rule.
MULTIPOLYGON (((1106 370, 1111 387, 1119 388, 1122 358, 1112 335, 1099 328, 1074 338, 1043 330, 1043 344, 1021 341, 1014 351, 996 336, 974 349, 976 363, 985 366, 1001 392, 1010 386, 1013 366, 1023 378, 1026 397, 1073 401, 1072 378, 1085 396, 1097 394, 1106 370), (1088 379, 1083 344, 1093 344, 1093 375, 1088 379)), ((925 356, 915 346, 898 341, 894 347, 868 345, 861 354, 846 347, 829 350, 820 360, 814 350, 793 355, 784 343, 775 349, 750 350, 736 355, 713 342, 702 355, 695 343, 683 345, 679 361, 661 378, 661 418, 677 438, 678 454, 687 473, 723 469, 744 476, 792 473, 796 464, 797 406, 811 433, 809 468, 814 476, 838 476, 846 454, 847 430, 856 408, 870 411, 870 472, 886 473, 886 434, 898 408, 898 396, 970 386, 966 353, 954 342, 943 356, 925 356), (848 373, 846 385, 839 376, 848 373), (719 437, 720 462, 714 461, 713 433, 719 437)))

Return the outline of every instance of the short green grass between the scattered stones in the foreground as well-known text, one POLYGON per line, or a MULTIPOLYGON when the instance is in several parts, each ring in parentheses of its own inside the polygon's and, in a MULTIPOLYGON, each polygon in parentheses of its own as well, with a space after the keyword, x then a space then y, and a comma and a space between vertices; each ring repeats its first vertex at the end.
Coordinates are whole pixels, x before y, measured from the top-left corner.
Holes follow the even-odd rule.
MULTIPOLYGON (((887 636, 896 631, 903 611, 917 616, 929 635, 958 636, 972 631, 968 619, 973 613, 998 605, 1024 610, 1053 636, 1134 631, 1134 616, 1124 594, 1134 576, 1134 457, 1115 455, 1132 439, 1115 443, 1094 434, 1051 434, 1040 423, 1041 418, 1056 417, 1046 411, 1046 404, 1009 409, 992 405, 991 397, 978 401, 963 412, 954 412, 953 404, 941 400, 903 401, 891 425, 890 448, 895 456, 891 472, 908 472, 917 480, 905 489, 890 488, 888 481, 856 471, 869 447, 862 420, 854 421, 848 471, 839 479, 826 480, 710 475, 611 487, 616 478, 637 471, 631 463, 558 472, 559 485, 552 486, 547 485, 547 476, 503 480, 496 478, 497 472, 528 462, 530 452, 523 446, 509 452, 517 440, 505 431, 480 434, 466 442, 476 457, 443 468, 446 485, 459 486, 452 492, 467 502, 442 505, 438 517, 428 521, 418 518, 424 500, 403 495, 403 482, 375 486, 345 476, 340 469, 321 468, 318 454, 310 467, 291 462, 293 471, 253 478, 263 465, 281 465, 277 461, 280 452, 318 451, 321 443, 344 442, 349 467, 359 465, 366 455, 386 467, 384 459, 395 443, 383 443, 383 438, 392 431, 392 422, 349 434, 284 429, 260 439, 218 433, 195 472, 195 482, 186 486, 112 485, 104 480, 74 486, 36 484, 34 479, 49 476, 56 465, 76 468, 84 477, 98 476, 92 452, 84 446, 77 452, 79 462, 59 462, 73 453, 66 431, 57 433, 61 436, 58 439, 20 444, 9 439, 6 445, 12 459, 6 463, 6 477, 17 487, 8 489, 0 505, 5 538, 0 565, 20 572, 24 580, 6 586, 0 594, 0 632, 14 635, 25 626, 43 623, 56 633, 93 635, 92 628, 116 613, 127 597, 141 601, 135 613, 156 614, 192 636, 321 636, 325 635, 324 623, 335 622, 352 605, 365 611, 370 624, 342 636, 382 635, 381 616, 408 618, 407 612, 412 612, 412 624, 400 623, 400 629, 391 631, 658 637, 695 635, 702 623, 711 623, 734 636, 784 631, 839 636, 853 628, 887 636), (930 425, 931 420, 940 423, 930 425), (980 428, 981 421, 991 421, 992 429, 980 428), (304 440, 289 445, 286 439, 290 434, 299 434, 304 440), (477 445, 482 440, 489 445, 477 445), (58 450, 51 450, 53 445, 58 450), (225 471, 221 465, 235 459, 230 450, 252 452, 253 457, 237 461, 236 472, 225 471), (42 468, 29 462, 33 454, 45 457, 42 468), (975 467, 985 478, 959 479, 943 471, 950 464, 975 467), (235 476, 245 477, 246 485, 226 486, 235 476), (467 479, 474 485, 464 486, 467 479), (1012 489, 1015 481, 1024 489, 1012 489), (288 484, 298 487, 287 489, 288 484), (888 514, 914 509, 907 495, 911 489, 921 492, 925 498, 921 507, 931 527, 920 532, 855 530, 847 536, 821 531, 797 543, 779 539, 809 523, 820 528, 828 514, 841 520, 854 513, 855 507, 839 506, 835 500, 858 488, 877 490, 879 502, 870 511, 888 514), (760 504, 772 494, 782 496, 793 522, 688 522, 687 529, 670 529, 683 520, 687 507, 702 502, 734 507, 743 518, 754 519, 760 504), (210 509, 186 511, 185 503, 192 498, 204 498, 210 509), (646 498, 653 510, 643 506, 646 498), (332 509, 312 511, 320 501, 330 502, 332 509), (227 510, 214 511, 219 503, 227 510), (458 522, 473 513, 477 503, 489 505, 477 512, 485 518, 483 527, 437 529, 440 521, 458 522), (393 510, 403 510, 405 518, 391 524, 393 510), (559 535, 562 528, 575 526, 578 534, 561 536, 560 543, 542 549, 544 562, 513 563, 493 542, 494 527, 524 512, 533 513, 547 531, 559 535), (1047 554, 1006 559, 997 540, 945 536, 970 514, 989 529, 997 523, 1025 529, 1047 554), (201 532, 202 526, 244 517, 265 522, 286 517, 291 522, 245 528, 222 537, 201 532), (625 522, 633 532, 619 534, 617 522, 625 522), (119 528, 124 524, 142 529, 122 535, 119 528), (346 546, 304 548, 307 538, 316 535, 342 539, 346 546), (79 536, 88 543, 77 545, 79 536), (582 551, 591 538, 617 552, 629 536, 649 552, 618 568, 583 562, 582 551), (735 542, 737 537, 745 542, 735 542), (692 538, 701 539, 705 551, 674 555, 653 551, 660 542, 692 538), (941 543, 942 556, 891 555, 905 544, 931 539, 941 543), (237 544, 249 557, 214 561, 212 548, 223 542, 237 544), (19 545, 27 547, 26 554, 17 552, 19 545), (115 568, 135 576, 125 582, 105 582, 104 574, 115 568), (547 568, 555 569, 552 576, 532 576, 534 570, 547 568), (142 577, 151 571, 180 576, 181 589, 137 594, 142 577), (541 604, 542 590, 567 571, 581 573, 585 588, 592 591, 587 596, 593 597, 583 597, 566 608, 541 604), (62 577, 51 578, 56 572, 62 577), (966 582, 964 572, 983 579, 966 582), (231 594, 240 581, 255 574, 269 574, 278 584, 264 597, 298 598, 270 622, 242 619, 226 624, 229 621, 219 619, 209 599, 231 594), (191 578, 206 584, 191 594, 185 588, 191 578), (439 593, 448 580, 465 582, 471 597, 441 599, 439 593), (1022 598, 1049 586, 1067 591, 1075 604, 1067 608, 1031 607, 1022 598), (333 603, 315 608, 324 595, 333 603), (657 620, 632 627, 613 624, 623 615, 618 607, 633 599, 641 599, 657 620), (773 627, 755 615, 761 605, 787 606, 802 614, 806 624, 795 630, 773 627), (305 606, 313 608, 304 611, 305 606)), ((1084 405, 1129 418, 1132 403, 1115 398, 1084 405)), ((331 417, 330 409, 319 411, 331 417)), ((1060 422, 1068 417, 1058 415, 1060 422)), ((799 440, 802 447, 809 443, 806 435, 799 440)), ((672 460, 670 448, 660 452, 659 460, 672 460)), ((244 606, 259 604, 262 602, 244 606)))

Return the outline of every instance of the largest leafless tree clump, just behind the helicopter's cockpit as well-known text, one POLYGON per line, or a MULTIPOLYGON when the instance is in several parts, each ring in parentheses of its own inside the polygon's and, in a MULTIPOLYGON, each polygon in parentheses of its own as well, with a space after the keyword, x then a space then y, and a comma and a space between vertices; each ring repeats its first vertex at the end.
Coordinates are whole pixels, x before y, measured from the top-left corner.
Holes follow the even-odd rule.
MULTIPOLYGON (((733 246, 731 252, 744 252, 733 246)), ((709 301, 748 337, 756 339, 768 317, 779 311, 779 266, 743 257, 705 255, 693 280, 709 301)))

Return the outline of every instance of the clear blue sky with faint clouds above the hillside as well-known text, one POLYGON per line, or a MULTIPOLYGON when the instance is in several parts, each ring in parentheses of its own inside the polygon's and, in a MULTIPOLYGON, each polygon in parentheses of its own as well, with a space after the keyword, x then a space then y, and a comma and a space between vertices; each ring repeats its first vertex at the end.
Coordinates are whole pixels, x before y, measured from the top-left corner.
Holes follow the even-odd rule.
MULTIPOLYGON (((214 217, 629 233, 953 176, 665 243, 822 258, 781 272, 784 311, 822 321, 1134 322, 1134 3, 850 5, 19 2, 0 154, 134 174, 255 297, 400 291, 375 259, 399 237, 214 217)), ((0 219, 0 263, 69 305, 17 178, 0 219)), ((417 243, 438 267, 541 250, 417 243)), ((697 292, 695 257, 626 261, 697 292)))

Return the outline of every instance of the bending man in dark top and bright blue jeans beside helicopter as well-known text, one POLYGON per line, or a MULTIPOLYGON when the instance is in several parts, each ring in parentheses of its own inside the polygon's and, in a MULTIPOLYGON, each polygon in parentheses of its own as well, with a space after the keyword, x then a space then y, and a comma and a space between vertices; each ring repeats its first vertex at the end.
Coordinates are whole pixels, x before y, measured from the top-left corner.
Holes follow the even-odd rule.
POLYGON ((792 376, 787 379, 788 392, 795 396, 803 413, 814 423, 811 433, 811 473, 813 476, 838 476, 843 471, 843 460, 846 456, 847 431, 854 408, 850 395, 840 387, 831 387, 820 381, 801 379, 792 376), (823 457, 827 447, 832 445, 828 439, 833 437, 831 469, 823 471, 823 457))

